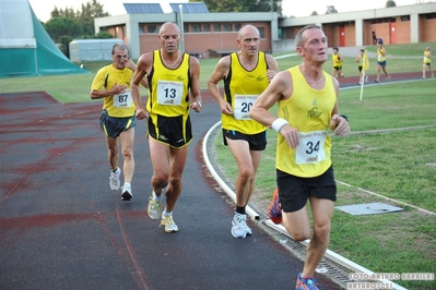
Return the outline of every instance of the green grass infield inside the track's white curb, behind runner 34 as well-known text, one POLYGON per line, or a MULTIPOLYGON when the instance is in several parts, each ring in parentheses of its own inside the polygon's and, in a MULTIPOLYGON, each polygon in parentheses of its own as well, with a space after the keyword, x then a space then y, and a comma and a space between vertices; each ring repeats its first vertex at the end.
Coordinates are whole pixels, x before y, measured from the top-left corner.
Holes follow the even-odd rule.
MULTIPOLYGON (((340 93, 353 134, 332 136, 337 205, 381 202, 404 212, 352 216, 335 210, 329 249, 375 273, 436 273, 436 216, 413 207, 436 212, 435 81, 368 86, 362 101, 358 97, 360 88, 340 93)), ((217 160, 235 182, 237 169, 221 140, 219 134, 217 160)), ((251 198, 264 212, 275 189, 276 133, 269 130, 268 140, 251 198)), ((436 281, 396 282, 436 289, 436 281)))

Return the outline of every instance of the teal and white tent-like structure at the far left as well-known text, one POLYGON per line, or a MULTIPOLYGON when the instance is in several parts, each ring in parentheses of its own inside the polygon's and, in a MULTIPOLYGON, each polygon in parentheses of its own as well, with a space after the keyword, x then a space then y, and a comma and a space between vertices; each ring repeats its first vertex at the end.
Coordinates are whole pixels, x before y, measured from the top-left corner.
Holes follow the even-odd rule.
POLYGON ((0 77, 90 73, 71 62, 27 0, 0 0, 0 77))

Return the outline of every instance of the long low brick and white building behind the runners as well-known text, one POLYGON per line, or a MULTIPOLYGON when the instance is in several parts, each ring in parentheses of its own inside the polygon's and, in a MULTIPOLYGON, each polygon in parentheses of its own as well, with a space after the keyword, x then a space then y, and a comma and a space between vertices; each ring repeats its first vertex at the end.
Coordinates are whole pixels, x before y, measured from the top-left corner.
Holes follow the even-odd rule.
POLYGON ((276 12, 210 13, 202 2, 170 3, 164 13, 158 3, 125 3, 127 14, 94 20, 95 32, 106 31, 129 46, 131 56, 160 48, 157 35, 165 22, 179 24, 180 49, 198 58, 214 58, 238 49, 243 25, 259 28, 260 49, 266 52, 295 50, 295 36, 307 24, 322 26, 330 47, 368 46, 372 32, 385 44, 436 41, 436 3, 279 19, 276 12))

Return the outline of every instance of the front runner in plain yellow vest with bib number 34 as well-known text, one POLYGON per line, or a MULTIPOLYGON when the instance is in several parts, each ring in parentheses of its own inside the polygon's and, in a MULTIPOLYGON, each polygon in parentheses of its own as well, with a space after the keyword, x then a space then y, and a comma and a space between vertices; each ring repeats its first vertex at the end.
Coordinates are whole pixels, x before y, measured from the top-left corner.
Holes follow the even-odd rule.
MULTIPOLYGON (((345 136, 350 125, 339 113, 339 82, 322 69, 328 41, 321 27, 303 27, 295 43, 302 64, 275 75, 249 114, 279 133, 275 167, 283 226, 296 241, 310 238, 296 289, 315 290, 314 274, 329 245, 337 200, 328 130, 345 136), (269 112, 274 104, 279 118, 269 112), (314 217, 313 234, 307 201, 314 217)), ((273 198, 272 203, 278 196, 273 198)))

